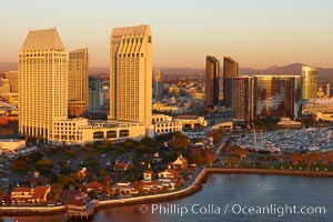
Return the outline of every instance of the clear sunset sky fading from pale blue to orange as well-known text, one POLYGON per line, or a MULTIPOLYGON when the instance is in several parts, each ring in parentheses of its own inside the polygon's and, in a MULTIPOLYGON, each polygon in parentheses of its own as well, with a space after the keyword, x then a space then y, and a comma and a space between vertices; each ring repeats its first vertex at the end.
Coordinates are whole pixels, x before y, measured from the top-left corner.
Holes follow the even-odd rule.
POLYGON ((242 68, 301 62, 333 68, 333 0, 7 0, 0 62, 17 61, 29 30, 57 30, 68 52, 88 47, 109 65, 113 28, 150 24, 153 65, 204 68, 229 56, 242 68))

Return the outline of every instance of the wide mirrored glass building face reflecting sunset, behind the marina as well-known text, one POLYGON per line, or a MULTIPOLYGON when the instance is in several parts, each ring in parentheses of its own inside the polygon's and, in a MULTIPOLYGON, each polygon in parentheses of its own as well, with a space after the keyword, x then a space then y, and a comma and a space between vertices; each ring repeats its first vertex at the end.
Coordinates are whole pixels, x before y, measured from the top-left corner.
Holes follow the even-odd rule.
POLYGON ((300 75, 254 75, 254 115, 299 117, 301 89, 300 75))

